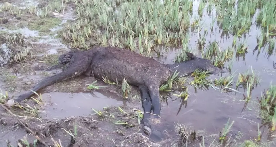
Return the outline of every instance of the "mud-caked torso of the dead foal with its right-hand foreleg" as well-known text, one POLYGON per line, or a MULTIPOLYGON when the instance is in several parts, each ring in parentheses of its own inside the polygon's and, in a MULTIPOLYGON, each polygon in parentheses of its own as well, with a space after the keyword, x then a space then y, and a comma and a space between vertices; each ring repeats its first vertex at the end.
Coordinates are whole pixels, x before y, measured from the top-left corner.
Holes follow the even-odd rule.
POLYGON ((121 48, 94 48, 93 50, 97 51, 88 70, 93 72, 94 77, 98 79, 108 77, 109 80, 119 83, 122 83, 125 78, 130 85, 146 85, 154 103, 152 111, 160 115, 159 87, 171 74, 166 65, 121 48))

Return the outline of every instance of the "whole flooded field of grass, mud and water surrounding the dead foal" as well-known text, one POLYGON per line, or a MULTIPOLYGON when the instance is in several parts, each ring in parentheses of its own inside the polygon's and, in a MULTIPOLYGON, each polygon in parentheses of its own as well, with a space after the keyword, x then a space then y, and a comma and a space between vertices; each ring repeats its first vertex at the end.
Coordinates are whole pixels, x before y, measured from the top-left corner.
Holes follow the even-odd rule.
POLYGON ((41 140, 38 146, 55 147, 180 147, 186 141, 200 147, 276 146, 276 9, 268 7, 274 1, 0 2, 3 104, 61 72, 50 67, 71 48, 116 46, 163 64, 185 61, 188 51, 228 71, 194 72, 185 82, 172 79, 173 88, 160 87, 161 119, 152 120, 158 133, 151 137, 139 128, 137 88, 85 76, 55 83, 10 112, 0 107, 1 146, 20 139, 23 146, 41 140))

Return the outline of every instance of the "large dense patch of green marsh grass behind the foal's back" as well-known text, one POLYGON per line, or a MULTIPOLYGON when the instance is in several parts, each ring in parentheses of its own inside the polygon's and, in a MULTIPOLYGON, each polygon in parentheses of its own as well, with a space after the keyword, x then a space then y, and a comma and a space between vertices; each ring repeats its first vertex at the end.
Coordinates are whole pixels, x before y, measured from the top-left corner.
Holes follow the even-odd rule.
POLYGON ((79 20, 66 25, 63 39, 76 48, 87 49, 94 42, 100 46, 138 48, 137 52, 149 56, 155 45, 181 43, 190 26, 191 15, 187 10, 191 3, 191 0, 164 1, 164 4, 157 0, 120 4, 107 0, 75 1, 79 20))

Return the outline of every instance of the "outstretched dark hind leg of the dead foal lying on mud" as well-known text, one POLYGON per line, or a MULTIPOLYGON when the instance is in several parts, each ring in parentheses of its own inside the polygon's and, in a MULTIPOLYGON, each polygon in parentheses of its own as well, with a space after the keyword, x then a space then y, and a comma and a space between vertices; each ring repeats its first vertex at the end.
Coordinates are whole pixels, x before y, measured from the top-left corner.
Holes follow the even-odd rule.
MULTIPOLYGON (((52 85, 53 83, 57 83, 57 82, 81 75, 83 72, 87 70, 87 68, 91 63, 91 60, 92 60, 92 57, 84 56, 84 54, 74 54, 74 56, 70 58, 70 64, 68 65, 68 68, 64 69, 64 71, 56 75, 45 78, 43 81, 35 85, 32 88, 32 91, 36 92, 42 88, 52 85)), ((24 99, 28 99, 33 94, 32 91, 29 91, 25 94, 20 95, 15 100, 19 102, 24 99)))

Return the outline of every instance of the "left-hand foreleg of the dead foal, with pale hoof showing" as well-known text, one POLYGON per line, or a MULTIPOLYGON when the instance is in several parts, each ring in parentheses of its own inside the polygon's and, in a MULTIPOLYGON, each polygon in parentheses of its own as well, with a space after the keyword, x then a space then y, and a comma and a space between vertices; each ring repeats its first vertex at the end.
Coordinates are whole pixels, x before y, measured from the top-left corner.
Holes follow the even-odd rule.
POLYGON ((152 128, 150 126, 150 113, 152 111, 152 103, 150 101, 150 95, 147 87, 140 85, 138 88, 140 90, 142 107, 144 109, 144 115, 141 121, 143 124, 143 131, 145 134, 150 136, 152 133, 152 128))

